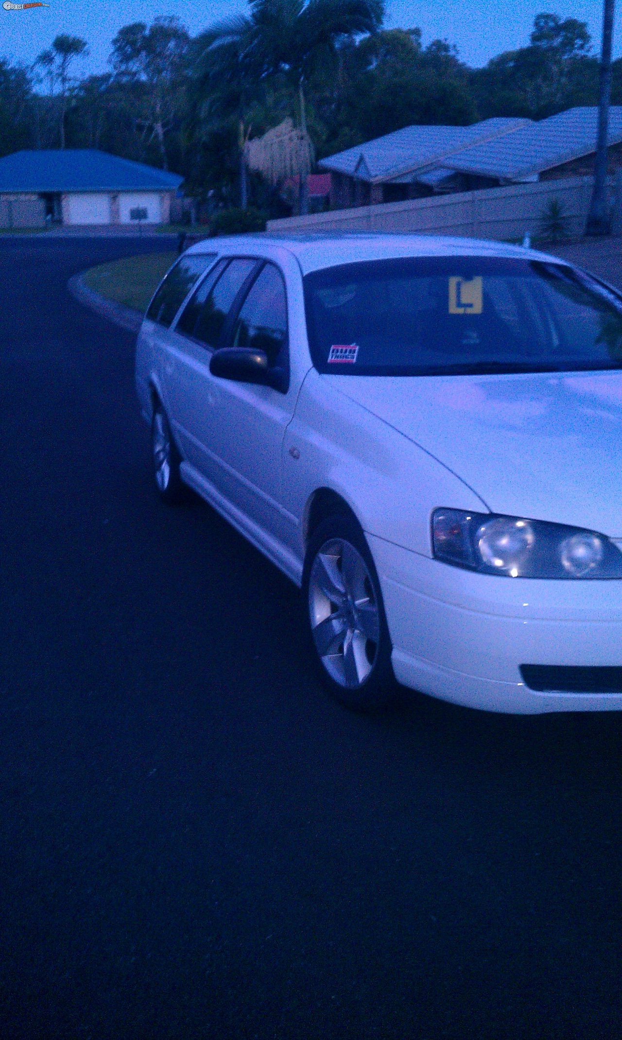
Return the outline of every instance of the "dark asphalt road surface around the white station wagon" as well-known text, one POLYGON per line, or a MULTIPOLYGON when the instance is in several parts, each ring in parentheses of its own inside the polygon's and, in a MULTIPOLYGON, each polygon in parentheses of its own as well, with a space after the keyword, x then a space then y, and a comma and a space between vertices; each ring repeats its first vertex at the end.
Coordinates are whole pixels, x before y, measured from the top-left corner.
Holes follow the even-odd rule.
POLYGON ((137 250, 0 241, 0 1037, 617 1040, 622 718, 328 700, 66 291, 137 250))

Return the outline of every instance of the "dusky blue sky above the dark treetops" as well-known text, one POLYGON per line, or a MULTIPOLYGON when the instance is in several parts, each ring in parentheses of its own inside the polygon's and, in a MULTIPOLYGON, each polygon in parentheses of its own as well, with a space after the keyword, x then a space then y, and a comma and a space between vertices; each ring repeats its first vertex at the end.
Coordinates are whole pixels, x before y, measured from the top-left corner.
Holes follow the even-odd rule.
MULTIPOLYGON (((110 41, 122 25, 149 22, 156 15, 177 15, 192 35, 215 21, 247 9, 245 0, 49 0, 49 7, 4 10, 0 7, 0 56, 29 64, 60 32, 86 40, 89 54, 81 59, 82 74, 106 71, 110 41)), ((614 56, 622 56, 622 4, 617 5, 614 56)), ((418 26, 423 44, 446 38, 458 46, 467 64, 477 68, 501 51, 528 44, 534 18, 542 10, 588 23, 600 48, 601 0, 386 0, 386 26, 418 26)), ((76 61, 76 67, 78 62, 76 61)), ((76 73, 78 69, 75 68, 76 73)))

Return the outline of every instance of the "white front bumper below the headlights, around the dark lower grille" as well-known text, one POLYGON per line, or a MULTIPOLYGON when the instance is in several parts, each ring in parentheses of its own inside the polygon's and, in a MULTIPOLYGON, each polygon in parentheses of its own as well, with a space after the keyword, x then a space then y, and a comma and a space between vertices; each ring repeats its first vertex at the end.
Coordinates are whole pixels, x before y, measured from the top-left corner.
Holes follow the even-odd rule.
POLYGON ((622 709, 620 693, 538 692, 521 665, 622 667, 622 579, 474 574, 367 535, 395 678, 489 711, 622 709))

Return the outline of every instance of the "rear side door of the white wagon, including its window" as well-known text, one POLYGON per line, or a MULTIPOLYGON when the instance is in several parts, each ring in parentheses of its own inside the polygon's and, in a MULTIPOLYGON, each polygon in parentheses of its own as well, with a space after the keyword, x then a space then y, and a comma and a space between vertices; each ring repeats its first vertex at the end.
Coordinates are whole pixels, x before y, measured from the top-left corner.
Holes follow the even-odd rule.
POLYGON ((219 476, 219 467, 206 449, 217 390, 209 362, 221 345, 236 297, 257 267, 253 258, 219 260, 199 284, 167 338, 163 378, 173 433, 186 462, 212 483, 219 476))

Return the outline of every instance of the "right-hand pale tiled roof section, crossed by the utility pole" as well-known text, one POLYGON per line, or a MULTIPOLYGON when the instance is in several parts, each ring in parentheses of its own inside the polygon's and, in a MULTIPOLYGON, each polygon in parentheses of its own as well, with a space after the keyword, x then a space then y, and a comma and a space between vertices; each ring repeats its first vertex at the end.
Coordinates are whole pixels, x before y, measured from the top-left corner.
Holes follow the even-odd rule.
MULTIPOLYGON (((467 174, 520 180, 596 151, 598 109, 568 108, 539 123, 527 123, 504 137, 474 145, 443 165, 467 174)), ((622 140, 622 106, 612 105, 608 144, 622 140)))

